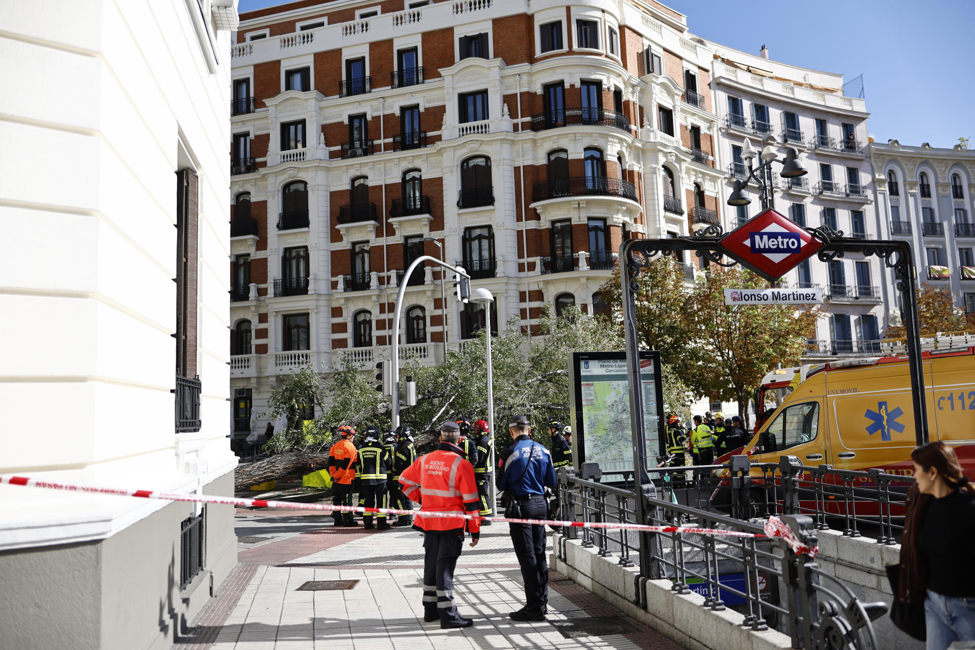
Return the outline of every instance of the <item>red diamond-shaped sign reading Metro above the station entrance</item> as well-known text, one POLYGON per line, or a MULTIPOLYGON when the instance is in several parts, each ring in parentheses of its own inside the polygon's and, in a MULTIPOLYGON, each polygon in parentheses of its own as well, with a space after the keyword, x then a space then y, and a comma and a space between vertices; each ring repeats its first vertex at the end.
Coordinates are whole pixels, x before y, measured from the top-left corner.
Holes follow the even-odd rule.
POLYGON ((765 210, 725 235, 722 247, 765 280, 777 280, 823 243, 775 210, 765 210))

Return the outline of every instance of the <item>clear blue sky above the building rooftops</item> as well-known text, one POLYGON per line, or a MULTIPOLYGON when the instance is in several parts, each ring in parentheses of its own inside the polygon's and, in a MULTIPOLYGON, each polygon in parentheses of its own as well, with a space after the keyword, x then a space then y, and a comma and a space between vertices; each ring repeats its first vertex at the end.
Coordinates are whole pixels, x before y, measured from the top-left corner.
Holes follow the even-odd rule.
MULTIPOLYGON (((975 138, 975 0, 664 0, 697 36, 803 67, 864 75, 878 142, 975 138)), ((282 4, 241 0, 240 11, 282 4)), ((847 90, 850 90, 849 88, 847 90)))

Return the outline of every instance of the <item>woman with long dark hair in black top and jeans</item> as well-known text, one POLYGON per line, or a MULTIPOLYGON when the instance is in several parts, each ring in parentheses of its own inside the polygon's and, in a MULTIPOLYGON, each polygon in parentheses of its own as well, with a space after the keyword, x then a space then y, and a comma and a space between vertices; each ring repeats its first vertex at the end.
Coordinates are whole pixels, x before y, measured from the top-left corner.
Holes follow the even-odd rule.
POLYGON ((911 452, 917 484, 909 495, 897 597, 923 597, 927 650, 975 640, 975 486, 955 449, 930 442, 911 452))

